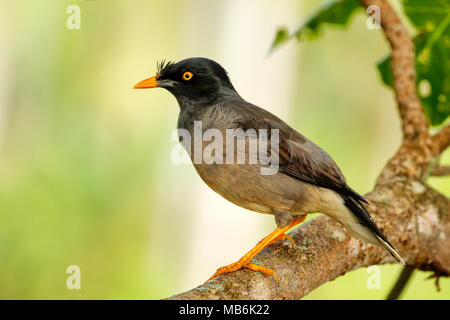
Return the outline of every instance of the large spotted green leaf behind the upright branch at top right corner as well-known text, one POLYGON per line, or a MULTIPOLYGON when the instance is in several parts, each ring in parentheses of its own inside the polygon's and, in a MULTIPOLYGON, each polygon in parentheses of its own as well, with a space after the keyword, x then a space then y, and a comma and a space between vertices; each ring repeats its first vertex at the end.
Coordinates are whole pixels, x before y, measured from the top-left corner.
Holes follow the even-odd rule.
MULTIPOLYGON (((450 1, 404 0, 405 12, 420 33, 414 38, 417 92, 432 125, 450 115, 450 1)), ((392 87, 391 58, 378 63, 383 82, 392 87)))

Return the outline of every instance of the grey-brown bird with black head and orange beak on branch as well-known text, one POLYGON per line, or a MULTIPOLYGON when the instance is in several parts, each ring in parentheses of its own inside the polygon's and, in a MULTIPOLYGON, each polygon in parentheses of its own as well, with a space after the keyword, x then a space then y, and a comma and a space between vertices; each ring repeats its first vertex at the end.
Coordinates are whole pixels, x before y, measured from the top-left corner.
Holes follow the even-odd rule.
POLYGON ((317 212, 334 218, 355 236, 386 249, 405 265, 364 206, 367 200, 348 186, 331 156, 274 114, 244 100, 219 63, 202 57, 179 62, 163 60, 157 63, 155 76, 134 86, 156 87, 168 90, 178 102, 178 132, 190 137, 199 132, 206 134, 208 130, 216 134, 213 159, 217 161, 202 161, 198 157, 207 151, 208 139, 202 138, 201 148, 197 147, 200 152, 196 154, 193 149, 197 141, 193 140, 198 139, 179 136, 201 179, 232 203, 275 217, 277 227, 272 233, 238 261, 217 269, 209 280, 247 268, 273 276, 278 282, 273 269, 253 264, 252 259, 275 241, 289 240, 295 245, 286 232, 303 222, 308 214, 317 212), (224 141, 216 141, 218 134, 228 137, 229 132, 237 131, 240 133, 231 136, 233 142, 244 142, 245 148, 228 148, 224 141), (258 145, 259 152, 250 150, 250 144, 260 142, 258 139, 263 136, 267 141, 258 145), (268 150, 269 144, 275 147, 268 150), (258 157, 261 154, 274 155, 275 172, 263 174, 268 158, 258 157), (236 161, 239 157, 244 161, 236 161), (254 157, 256 161, 250 162, 254 157))

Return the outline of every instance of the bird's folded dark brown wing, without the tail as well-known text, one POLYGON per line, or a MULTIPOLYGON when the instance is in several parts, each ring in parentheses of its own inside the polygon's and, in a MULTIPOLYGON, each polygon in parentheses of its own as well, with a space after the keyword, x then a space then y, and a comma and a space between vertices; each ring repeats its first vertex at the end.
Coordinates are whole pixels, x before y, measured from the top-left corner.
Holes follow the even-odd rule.
MULTIPOLYGON (((237 127, 248 129, 278 129, 279 169, 284 174, 302 181, 349 194, 360 201, 366 200, 347 186, 345 177, 333 159, 318 145, 291 128, 272 113, 250 103, 230 106, 242 116, 234 121, 237 127)), ((268 143, 268 148, 270 144, 268 143)), ((269 154, 269 153, 268 153, 269 154)))

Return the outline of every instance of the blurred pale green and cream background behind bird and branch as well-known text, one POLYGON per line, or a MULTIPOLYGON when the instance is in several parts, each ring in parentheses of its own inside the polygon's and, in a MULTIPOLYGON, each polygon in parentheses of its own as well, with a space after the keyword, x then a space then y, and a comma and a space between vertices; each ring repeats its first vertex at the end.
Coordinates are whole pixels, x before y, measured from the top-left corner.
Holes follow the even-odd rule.
MULTIPOLYGON (((201 284, 272 231, 190 165, 175 165, 178 106, 132 86, 156 61, 221 63, 248 101, 327 150, 360 193, 400 141, 392 92, 375 62, 388 53, 362 14, 313 42, 268 49, 322 1, 41 0, 0 2, 0 298, 159 299, 201 284), (69 5, 81 29, 69 30, 69 5), (81 268, 81 289, 66 268, 81 268)), ((398 6, 397 6, 398 7, 398 6)), ((444 162, 450 154, 444 155, 444 162)), ((450 181, 430 183, 446 195, 450 181)), ((306 299, 383 299, 400 272, 365 269, 306 299)), ((416 272, 403 298, 449 299, 416 272)))

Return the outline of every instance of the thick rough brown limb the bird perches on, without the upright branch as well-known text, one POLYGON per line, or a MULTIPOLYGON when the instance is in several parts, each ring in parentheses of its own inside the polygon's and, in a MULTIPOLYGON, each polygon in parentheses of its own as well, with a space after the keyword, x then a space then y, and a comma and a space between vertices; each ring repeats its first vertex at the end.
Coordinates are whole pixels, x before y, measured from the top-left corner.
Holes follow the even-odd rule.
MULTIPOLYGON (((409 266, 450 275, 450 201, 425 184, 399 181, 367 195, 376 223, 409 266)), ((367 244, 323 215, 295 229, 296 247, 273 244, 253 260, 273 277, 240 270, 170 299, 299 299, 346 272, 392 263, 383 249, 367 244)))

